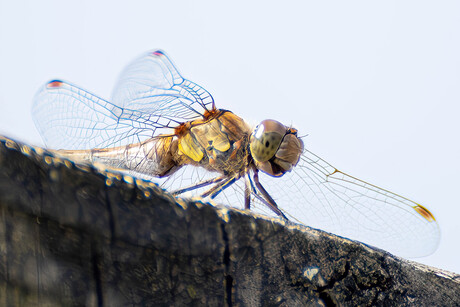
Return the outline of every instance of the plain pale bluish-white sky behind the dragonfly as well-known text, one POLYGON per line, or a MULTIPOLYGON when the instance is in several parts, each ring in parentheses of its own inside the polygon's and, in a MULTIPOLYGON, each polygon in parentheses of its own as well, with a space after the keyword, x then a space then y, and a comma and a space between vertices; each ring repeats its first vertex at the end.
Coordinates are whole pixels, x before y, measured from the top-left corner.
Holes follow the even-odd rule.
POLYGON ((218 107, 276 118, 339 169, 428 207, 460 273, 460 4, 456 1, 3 1, 0 134, 42 145, 30 114, 62 78, 109 98, 165 50, 218 107))

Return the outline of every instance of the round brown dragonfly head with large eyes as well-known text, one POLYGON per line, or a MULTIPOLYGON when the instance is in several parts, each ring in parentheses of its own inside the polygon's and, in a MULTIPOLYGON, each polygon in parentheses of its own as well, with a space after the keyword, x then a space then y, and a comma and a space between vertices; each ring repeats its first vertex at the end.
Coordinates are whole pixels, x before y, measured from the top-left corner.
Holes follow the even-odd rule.
POLYGON ((251 134, 249 148, 258 169, 272 176, 282 176, 299 161, 303 142, 297 137, 296 129, 266 119, 251 134))

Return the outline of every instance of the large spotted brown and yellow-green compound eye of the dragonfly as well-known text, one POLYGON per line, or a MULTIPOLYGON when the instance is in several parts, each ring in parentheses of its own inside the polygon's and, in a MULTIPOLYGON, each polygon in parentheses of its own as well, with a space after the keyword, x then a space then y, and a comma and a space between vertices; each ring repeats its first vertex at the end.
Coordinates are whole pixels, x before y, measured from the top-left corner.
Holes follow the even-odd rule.
POLYGON ((273 158, 281 145, 287 128, 280 122, 267 119, 251 135, 249 147, 254 160, 265 162, 273 158))

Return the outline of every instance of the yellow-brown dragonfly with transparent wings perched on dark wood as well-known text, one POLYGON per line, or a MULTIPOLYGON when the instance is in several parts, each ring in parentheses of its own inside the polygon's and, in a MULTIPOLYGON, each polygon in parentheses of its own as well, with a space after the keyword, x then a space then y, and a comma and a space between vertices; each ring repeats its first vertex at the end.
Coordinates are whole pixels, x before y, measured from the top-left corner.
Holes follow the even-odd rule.
POLYGON ((177 196, 238 204, 404 257, 439 244, 426 207, 340 171, 293 127, 263 120, 253 129, 218 109, 161 50, 131 62, 110 101, 52 80, 35 95, 32 114, 55 152, 155 178, 177 196))

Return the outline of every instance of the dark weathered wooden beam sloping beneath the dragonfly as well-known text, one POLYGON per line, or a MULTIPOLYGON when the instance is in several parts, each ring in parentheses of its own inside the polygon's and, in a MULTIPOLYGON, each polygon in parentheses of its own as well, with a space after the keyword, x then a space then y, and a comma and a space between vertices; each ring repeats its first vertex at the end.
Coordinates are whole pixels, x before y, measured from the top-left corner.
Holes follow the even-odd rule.
POLYGON ((0 137, 1 306, 459 304, 457 274, 0 137))

